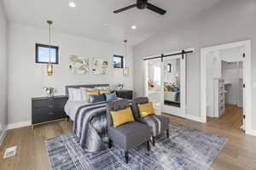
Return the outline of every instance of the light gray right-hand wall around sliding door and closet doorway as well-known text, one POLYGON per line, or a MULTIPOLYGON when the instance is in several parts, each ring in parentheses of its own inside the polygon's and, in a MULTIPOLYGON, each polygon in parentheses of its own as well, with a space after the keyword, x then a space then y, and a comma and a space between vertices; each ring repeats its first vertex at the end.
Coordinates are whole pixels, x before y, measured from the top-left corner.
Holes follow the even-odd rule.
MULTIPOLYGON (((187 57, 187 109, 188 114, 200 116, 200 49, 227 42, 252 40, 252 56, 256 54, 256 1, 225 0, 198 14, 193 20, 161 31, 135 48, 134 87, 137 96, 143 95, 143 57, 195 48, 187 57)), ((171 25, 172 23, 170 23, 171 25)), ((256 58, 252 57, 253 81, 256 82, 256 58)), ((256 89, 253 88, 253 110, 256 110, 256 89)), ((256 114, 252 117, 256 130, 256 114)))

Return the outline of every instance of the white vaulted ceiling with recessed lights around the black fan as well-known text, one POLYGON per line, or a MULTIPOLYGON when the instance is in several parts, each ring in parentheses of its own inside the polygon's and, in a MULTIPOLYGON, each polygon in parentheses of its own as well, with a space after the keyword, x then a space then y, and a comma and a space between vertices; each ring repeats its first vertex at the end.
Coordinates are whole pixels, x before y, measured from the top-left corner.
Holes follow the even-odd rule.
POLYGON ((45 20, 54 20, 56 31, 107 42, 128 39, 130 45, 135 46, 162 29, 196 17, 219 0, 149 0, 165 8, 165 15, 137 8, 113 14, 113 10, 136 3, 136 0, 73 0, 76 8, 70 8, 69 1, 3 0, 3 3, 10 21, 45 27, 45 20), (137 26, 136 30, 131 29, 133 25, 137 26))

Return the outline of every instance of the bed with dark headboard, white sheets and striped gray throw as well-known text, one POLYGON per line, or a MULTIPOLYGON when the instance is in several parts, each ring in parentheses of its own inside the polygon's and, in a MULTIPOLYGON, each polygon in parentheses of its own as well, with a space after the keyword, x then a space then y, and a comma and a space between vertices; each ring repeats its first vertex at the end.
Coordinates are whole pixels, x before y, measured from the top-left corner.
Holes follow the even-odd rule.
MULTIPOLYGON (((76 85, 68 88, 97 88, 109 87, 108 84, 76 85)), ((67 101, 65 112, 73 121, 73 133, 78 137, 81 148, 89 152, 105 150, 108 146, 108 126, 106 103, 86 103, 84 101, 67 101)))

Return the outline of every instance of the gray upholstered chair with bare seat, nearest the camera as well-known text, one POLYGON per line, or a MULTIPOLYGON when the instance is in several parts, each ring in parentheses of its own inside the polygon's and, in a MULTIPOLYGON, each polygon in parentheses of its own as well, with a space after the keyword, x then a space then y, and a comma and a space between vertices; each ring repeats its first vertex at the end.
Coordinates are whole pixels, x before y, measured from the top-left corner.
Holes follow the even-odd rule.
POLYGON ((151 138, 151 127, 141 122, 128 122, 119 127, 113 127, 110 111, 120 111, 128 107, 130 107, 128 99, 113 101, 107 104, 109 148, 112 147, 112 144, 116 144, 125 150, 126 163, 129 160, 128 150, 147 142, 149 151, 149 141, 151 138))

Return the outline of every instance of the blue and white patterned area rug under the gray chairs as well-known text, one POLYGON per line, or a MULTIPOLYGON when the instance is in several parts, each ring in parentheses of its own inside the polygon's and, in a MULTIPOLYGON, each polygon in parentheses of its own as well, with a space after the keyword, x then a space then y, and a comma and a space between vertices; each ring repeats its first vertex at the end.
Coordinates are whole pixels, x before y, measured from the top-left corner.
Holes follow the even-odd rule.
POLYGON ((172 122, 169 139, 161 136, 149 152, 146 144, 130 150, 128 164, 124 151, 116 146, 95 153, 82 150, 73 133, 45 144, 53 170, 207 170, 227 140, 172 122))

